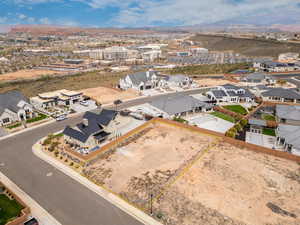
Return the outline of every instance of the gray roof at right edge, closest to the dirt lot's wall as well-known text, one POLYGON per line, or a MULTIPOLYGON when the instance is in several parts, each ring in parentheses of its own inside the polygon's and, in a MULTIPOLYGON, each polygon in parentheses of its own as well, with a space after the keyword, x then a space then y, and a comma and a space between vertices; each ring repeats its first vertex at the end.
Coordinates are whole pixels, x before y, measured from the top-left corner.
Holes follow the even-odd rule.
POLYGON ((287 144, 293 145, 294 148, 300 149, 300 126, 279 124, 277 133, 279 137, 285 139, 287 144))

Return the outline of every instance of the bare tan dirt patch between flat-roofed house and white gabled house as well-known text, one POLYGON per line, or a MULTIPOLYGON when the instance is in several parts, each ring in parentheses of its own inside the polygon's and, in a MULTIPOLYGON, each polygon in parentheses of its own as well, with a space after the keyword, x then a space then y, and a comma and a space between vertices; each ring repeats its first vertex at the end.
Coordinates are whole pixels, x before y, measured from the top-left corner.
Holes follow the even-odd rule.
POLYGON ((91 97, 92 99, 100 102, 101 104, 112 103, 115 100, 126 100, 138 97, 138 93, 135 90, 121 91, 108 87, 96 87, 81 90, 84 95, 91 97))

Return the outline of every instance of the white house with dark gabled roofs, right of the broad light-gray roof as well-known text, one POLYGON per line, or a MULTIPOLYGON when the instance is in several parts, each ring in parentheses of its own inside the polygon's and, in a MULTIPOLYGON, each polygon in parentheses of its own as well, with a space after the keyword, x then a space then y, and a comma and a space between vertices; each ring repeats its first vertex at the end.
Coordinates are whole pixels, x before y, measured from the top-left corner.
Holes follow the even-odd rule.
POLYGON ((220 102, 254 102, 255 96, 246 88, 225 84, 211 89, 206 93, 207 97, 216 103, 220 102))

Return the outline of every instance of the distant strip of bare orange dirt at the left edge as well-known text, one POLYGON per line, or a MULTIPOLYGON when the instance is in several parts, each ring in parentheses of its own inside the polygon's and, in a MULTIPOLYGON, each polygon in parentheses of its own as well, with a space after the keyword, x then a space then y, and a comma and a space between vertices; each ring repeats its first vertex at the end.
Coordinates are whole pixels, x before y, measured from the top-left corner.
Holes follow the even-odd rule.
POLYGON ((0 75, 0 81, 12 81, 22 79, 38 78, 43 75, 61 74, 62 72, 51 70, 20 70, 13 73, 5 73, 0 75))

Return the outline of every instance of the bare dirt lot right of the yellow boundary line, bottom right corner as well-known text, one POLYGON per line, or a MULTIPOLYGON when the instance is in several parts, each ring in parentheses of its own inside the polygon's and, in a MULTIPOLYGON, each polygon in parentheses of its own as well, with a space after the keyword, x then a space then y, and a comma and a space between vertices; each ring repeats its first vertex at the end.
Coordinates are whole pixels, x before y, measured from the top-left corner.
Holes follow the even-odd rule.
POLYGON ((219 142, 155 202, 168 225, 299 225, 300 165, 219 142))

